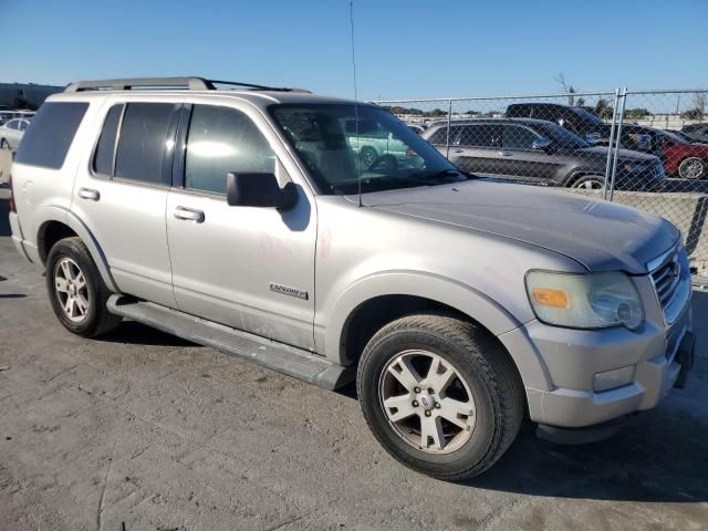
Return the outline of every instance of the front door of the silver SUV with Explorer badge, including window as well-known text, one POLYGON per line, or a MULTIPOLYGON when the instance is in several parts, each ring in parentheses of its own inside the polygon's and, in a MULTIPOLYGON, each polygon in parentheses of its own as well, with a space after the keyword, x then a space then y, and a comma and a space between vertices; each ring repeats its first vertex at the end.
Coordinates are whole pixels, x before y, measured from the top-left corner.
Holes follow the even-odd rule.
POLYGON ((282 187, 290 180, 283 160, 292 163, 262 116, 249 107, 196 104, 181 123, 187 122, 188 127, 180 125, 184 158, 176 157, 166 217, 179 309, 313 348, 312 196, 298 186, 298 204, 288 211, 230 207, 229 171, 275 174, 282 187))

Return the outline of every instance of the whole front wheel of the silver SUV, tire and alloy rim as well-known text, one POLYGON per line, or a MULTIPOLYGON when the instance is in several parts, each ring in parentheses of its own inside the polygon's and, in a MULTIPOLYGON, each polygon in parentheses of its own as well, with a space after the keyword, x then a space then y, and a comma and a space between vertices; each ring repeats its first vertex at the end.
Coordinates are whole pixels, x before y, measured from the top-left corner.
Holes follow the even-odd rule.
POLYGON ((357 391, 369 428, 393 457, 450 481, 491 467, 524 412, 523 386, 503 347, 446 315, 384 326, 364 350, 357 391))

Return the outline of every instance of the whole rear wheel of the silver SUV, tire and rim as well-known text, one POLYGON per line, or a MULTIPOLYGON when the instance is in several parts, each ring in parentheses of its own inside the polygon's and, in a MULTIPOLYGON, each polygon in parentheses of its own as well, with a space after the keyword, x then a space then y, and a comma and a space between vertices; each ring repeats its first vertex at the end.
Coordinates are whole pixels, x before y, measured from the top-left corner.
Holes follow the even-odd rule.
POLYGON ((111 292, 81 238, 64 238, 52 247, 46 288, 54 314, 74 334, 101 335, 121 323, 106 308, 111 292))

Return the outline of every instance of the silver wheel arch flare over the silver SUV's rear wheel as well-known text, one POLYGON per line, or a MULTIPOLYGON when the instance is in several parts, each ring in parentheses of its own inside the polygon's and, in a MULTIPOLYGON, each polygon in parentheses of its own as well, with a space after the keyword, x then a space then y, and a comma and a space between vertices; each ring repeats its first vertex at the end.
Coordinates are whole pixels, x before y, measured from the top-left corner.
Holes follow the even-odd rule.
POLYGON ((119 290, 111 275, 108 261, 88 227, 76 215, 62 207, 46 207, 43 214, 43 220, 37 232, 37 250, 41 263, 46 262, 49 251, 56 241, 76 236, 88 249, 106 287, 114 293, 118 293, 119 290))

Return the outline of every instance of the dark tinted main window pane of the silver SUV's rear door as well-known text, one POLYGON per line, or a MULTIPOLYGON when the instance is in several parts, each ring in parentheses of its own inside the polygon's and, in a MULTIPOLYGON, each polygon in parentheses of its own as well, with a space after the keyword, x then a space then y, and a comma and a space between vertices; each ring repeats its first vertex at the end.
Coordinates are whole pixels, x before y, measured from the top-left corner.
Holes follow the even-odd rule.
POLYGON ((129 103, 123 115, 115 177, 169 185, 163 171, 167 135, 176 105, 171 103, 129 103))

